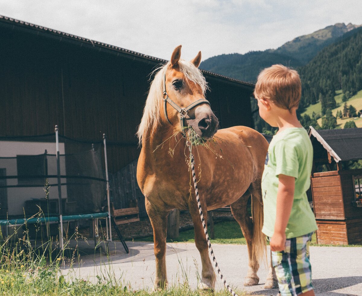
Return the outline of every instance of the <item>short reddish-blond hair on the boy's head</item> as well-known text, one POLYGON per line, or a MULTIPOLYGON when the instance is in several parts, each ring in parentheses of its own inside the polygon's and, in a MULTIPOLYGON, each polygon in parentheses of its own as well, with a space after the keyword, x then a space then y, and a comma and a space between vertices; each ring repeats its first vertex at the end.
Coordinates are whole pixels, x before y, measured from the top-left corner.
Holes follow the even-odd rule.
POLYGON ((268 98, 280 108, 298 108, 302 85, 297 71, 281 64, 265 68, 258 75, 254 97, 268 98))

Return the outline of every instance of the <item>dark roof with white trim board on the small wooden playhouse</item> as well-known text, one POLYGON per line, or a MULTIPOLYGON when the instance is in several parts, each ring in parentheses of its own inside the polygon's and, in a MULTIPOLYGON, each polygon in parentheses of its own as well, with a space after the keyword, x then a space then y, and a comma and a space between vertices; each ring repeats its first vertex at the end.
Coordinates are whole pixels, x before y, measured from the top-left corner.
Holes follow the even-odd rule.
POLYGON ((315 130, 308 132, 315 137, 336 162, 362 159, 362 128, 315 130))

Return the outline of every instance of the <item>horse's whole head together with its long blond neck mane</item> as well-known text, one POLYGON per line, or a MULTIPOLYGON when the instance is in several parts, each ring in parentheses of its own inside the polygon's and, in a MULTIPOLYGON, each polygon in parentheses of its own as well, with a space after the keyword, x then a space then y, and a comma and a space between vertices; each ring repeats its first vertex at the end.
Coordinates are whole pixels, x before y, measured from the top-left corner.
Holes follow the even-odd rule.
POLYGON ((181 60, 180 55, 181 45, 174 49, 171 61, 155 70, 137 131, 140 142, 147 133, 155 133, 161 124, 171 124, 184 132, 180 124, 182 118, 184 127, 192 127, 205 139, 211 139, 218 129, 218 118, 205 99, 205 77, 198 69, 201 52, 190 62, 181 60))

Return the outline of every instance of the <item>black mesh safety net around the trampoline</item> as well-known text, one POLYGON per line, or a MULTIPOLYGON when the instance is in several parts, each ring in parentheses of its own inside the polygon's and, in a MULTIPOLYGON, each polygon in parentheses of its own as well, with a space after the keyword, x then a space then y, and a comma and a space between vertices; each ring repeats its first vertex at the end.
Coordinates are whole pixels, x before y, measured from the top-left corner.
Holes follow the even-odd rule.
MULTIPOLYGON (((59 135, 63 215, 94 213, 106 205, 103 141, 79 141, 59 135)), ((55 133, 0 137, 0 218, 28 218, 41 211, 59 214, 55 133), (45 198, 44 184, 50 184, 45 198)))

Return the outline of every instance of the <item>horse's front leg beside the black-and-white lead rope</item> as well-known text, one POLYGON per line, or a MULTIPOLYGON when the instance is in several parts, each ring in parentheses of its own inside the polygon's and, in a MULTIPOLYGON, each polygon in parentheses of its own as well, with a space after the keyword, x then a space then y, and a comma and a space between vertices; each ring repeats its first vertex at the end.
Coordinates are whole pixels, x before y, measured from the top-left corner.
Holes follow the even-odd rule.
MULTIPOLYGON (((214 273, 214 268, 209 257, 209 247, 207 245, 207 240, 205 237, 204 229, 202 226, 199 210, 196 201, 190 200, 189 211, 192 217, 195 228, 195 245, 200 252, 201 263, 202 263, 202 272, 201 272, 201 283, 199 284, 200 289, 214 289, 216 276, 214 273)), ((205 219, 205 224, 207 223, 207 209, 206 204, 201 202, 202 213, 205 219)))

